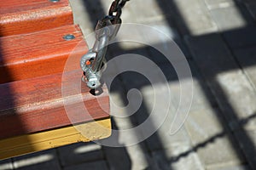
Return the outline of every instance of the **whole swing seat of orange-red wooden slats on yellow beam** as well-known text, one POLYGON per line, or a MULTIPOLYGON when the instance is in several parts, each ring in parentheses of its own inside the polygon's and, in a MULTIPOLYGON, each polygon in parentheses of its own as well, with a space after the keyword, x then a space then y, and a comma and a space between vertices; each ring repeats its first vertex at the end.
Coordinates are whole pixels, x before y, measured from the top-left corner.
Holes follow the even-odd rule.
POLYGON ((68 0, 10 0, 0 8, 0 159, 108 138, 108 90, 103 85, 95 96, 81 82, 79 59, 88 48, 68 0), (63 96, 70 56, 65 81, 81 89, 63 96), (81 101, 66 98, 81 98, 89 114, 68 115, 66 106, 79 113, 81 101))

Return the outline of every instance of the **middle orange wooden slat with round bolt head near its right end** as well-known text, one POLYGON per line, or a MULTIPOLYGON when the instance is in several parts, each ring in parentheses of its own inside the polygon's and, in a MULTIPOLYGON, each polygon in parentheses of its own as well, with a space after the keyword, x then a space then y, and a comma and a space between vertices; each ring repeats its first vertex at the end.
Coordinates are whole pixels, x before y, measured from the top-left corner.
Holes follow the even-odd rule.
POLYGON ((69 54, 82 56, 88 50, 84 42, 84 48, 73 52, 82 40, 79 26, 73 25, 0 37, 0 83, 62 72, 69 54), (73 34, 75 39, 64 40, 67 34, 73 34))

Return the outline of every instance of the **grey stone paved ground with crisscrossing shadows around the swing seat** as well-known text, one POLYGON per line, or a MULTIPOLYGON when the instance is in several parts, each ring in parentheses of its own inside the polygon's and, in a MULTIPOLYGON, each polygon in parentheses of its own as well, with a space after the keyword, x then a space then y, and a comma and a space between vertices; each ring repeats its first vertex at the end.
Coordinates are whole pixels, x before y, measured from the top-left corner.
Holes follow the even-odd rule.
MULTIPOLYGON (((73 0, 76 22, 85 35, 107 13, 110 3, 111 0, 73 0)), ((167 119, 150 138, 129 147, 71 144, 0 161, 0 169, 256 169, 256 2, 131 0, 122 18, 126 23, 154 26, 182 48, 194 81, 193 105, 184 126, 170 135, 167 132, 172 119, 167 119)), ((157 63, 172 89, 173 105, 177 105, 179 86, 172 66, 154 49, 141 44, 119 44, 111 47, 108 55, 127 51, 143 54, 157 63)), ((189 83, 189 79, 181 81, 189 83)), ((143 122, 154 104, 148 81, 134 73, 122 74, 113 82, 113 103, 124 105, 125 94, 131 88, 141 90, 143 105, 131 117, 113 117, 118 129, 143 122)), ((112 111, 119 112, 113 104, 112 111)), ((131 133, 117 140, 126 144, 138 135, 131 133)))

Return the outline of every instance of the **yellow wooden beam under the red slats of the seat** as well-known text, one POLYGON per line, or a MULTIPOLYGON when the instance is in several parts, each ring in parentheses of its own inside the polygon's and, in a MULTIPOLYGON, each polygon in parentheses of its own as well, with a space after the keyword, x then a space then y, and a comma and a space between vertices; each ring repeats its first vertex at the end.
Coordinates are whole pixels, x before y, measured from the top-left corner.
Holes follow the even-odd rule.
POLYGON ((104 139, 108 138, 110 134, 111 122, 107 118, 74 127, 62 127, 60 129, 3 139, 0 141, 0 160, 39 150, 47 150, 65 144, 104 139))

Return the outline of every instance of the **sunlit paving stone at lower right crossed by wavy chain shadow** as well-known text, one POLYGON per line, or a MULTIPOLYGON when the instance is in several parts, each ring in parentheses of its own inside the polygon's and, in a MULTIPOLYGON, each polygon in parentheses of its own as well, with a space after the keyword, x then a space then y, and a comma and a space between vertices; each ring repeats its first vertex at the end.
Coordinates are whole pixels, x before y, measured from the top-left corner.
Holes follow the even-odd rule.
POLYGON ((206 165, 244 161, 236 140, 224 127, 218 110, 190 111, 185 122, 194 149, 206 165))

